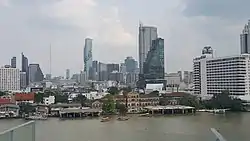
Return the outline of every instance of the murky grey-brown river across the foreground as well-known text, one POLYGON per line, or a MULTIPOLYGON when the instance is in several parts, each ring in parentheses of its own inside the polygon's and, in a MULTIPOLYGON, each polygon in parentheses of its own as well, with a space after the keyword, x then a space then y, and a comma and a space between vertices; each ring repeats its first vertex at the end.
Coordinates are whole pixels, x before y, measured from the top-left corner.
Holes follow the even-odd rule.
MULTIPOLYGON (((0 120, 0 132, 24 122, 0 120)), ((36 141, 215 141, 211 127, 228 141, 249 141, 250 113, 132 116, 128 121, 110 122, 51 118, 36 122, 36 141)))

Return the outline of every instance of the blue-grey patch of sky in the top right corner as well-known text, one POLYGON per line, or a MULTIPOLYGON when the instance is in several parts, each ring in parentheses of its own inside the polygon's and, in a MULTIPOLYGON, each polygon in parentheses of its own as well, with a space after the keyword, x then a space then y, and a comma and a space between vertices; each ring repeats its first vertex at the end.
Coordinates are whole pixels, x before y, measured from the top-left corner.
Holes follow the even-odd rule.
POLYGON ((184 0, 186 16, 212 16, 223 19, 249 18, 249 0, 184 0))

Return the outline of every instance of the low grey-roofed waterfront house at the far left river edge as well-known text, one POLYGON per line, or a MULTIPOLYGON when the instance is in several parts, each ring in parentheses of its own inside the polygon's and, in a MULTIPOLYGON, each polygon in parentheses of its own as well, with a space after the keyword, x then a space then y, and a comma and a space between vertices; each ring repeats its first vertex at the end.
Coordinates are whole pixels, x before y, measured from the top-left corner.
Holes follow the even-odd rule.
POLYGON ((0 118, 15 118, 19 116, 19 106, 15 104, 5 104, 0 106, 0 118))

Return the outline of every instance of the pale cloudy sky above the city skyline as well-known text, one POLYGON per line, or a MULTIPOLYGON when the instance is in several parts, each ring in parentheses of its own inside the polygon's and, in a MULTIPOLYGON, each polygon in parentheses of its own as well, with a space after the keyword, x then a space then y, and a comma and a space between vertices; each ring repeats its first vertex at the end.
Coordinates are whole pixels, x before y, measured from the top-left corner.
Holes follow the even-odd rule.
POLYGON ((215 56, 240 52, 239 34, 250 18, 249 0, 0 0, 0 66, 21 52, 52 75, 83 69, 84 39, 93 59, 138 60, 139 21, 165 40, 166 72, 192 70, 192 59, 210 45, 215 56))

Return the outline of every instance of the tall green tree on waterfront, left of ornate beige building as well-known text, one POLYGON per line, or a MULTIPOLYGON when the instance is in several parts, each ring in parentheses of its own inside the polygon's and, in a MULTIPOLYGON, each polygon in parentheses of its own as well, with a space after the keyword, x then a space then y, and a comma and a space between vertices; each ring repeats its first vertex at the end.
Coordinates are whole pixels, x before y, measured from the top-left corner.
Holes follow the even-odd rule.
POLYGON ((112 95, 107 95, 102 106, 104 114, 113 114, 115 112, 115 102, 112 95))

